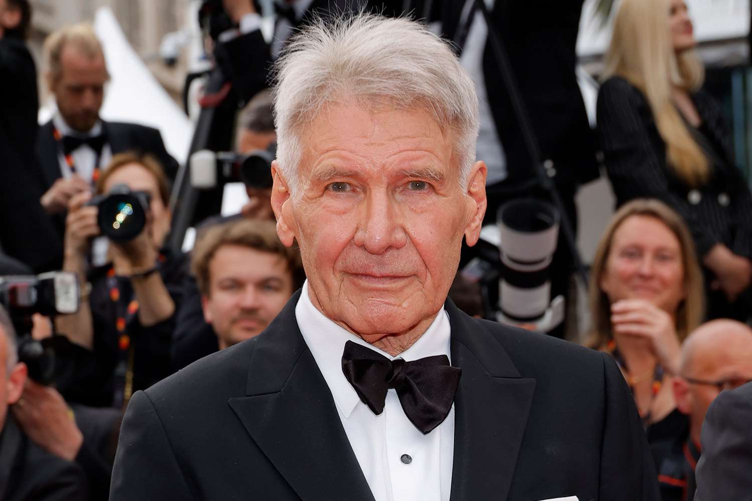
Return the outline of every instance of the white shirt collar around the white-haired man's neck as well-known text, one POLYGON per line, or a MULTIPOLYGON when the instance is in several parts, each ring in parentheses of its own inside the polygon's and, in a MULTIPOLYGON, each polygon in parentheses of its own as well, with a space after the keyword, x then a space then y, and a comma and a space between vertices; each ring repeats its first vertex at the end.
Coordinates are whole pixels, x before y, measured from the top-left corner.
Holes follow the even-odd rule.
POLYGON ((396 357, 366 343, 316 309, 308 295, 308 280, 303 284, 303 290, 295 308, 295 316, 305 344, 314 355, 314 360, 324 376, 326 385, 329 386, 329 391, 332 392, 335 404, 345 418, 350 417, 360 402, 358 394, 342 373, 342 352, 344 352, 344 343, 347 341, 366 346, 390 360, 403 358, 406 361, 414 361, 433 355, 447 355, 450 358, 450 324, 444 308, 441 308, 426 332, 413 346, 396 357))

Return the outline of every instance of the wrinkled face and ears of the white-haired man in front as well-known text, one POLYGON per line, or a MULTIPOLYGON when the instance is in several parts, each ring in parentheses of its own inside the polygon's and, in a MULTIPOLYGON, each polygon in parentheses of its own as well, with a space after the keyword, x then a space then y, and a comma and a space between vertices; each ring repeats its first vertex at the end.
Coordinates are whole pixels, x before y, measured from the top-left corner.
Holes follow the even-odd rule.
POLYGON ((298 191, 275 164, 272 206, 282 241, 299 243, 314 306, 368 343, 427 327, 463 234, 478 240, 485 165, 463 189, 453 135, 420 110, 334 104, 302 135, 298 191))

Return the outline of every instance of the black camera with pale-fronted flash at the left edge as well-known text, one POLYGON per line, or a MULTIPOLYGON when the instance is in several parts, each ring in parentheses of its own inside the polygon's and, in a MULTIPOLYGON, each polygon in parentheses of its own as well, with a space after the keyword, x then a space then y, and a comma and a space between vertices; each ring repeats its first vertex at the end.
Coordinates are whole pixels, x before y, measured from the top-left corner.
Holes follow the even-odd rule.
POLYGON ((34 275, 0 276, 0 303, 11 315, 19 335, 18 359, 29 369, 29 378, 42 385, 50 385, 55 379, 56 346, 62 338, 50 337, 39 342, 29 331, 32 314, 66 315, 78 311, 78 279, 75 273, 52 272, 34 275))

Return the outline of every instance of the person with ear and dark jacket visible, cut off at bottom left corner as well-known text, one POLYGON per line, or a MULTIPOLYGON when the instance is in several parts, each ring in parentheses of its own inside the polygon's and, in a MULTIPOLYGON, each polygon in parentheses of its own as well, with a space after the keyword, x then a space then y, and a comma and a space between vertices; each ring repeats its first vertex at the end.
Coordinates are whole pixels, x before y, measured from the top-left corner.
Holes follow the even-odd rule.
MULTIPOLYGON (((0 306, 0 499, 88 499, 86 479, 80 466, 72 462, 70 450, 61 449, 59 454, 45 451, 32 442, 20 429, 14 415, 8 412, 8 406, 13 404, 16 409, 23 409, 25 403, 21 394, 25 381, 26 365, 17 363, 15 329, 8 313, 0 306)), ((69 415, 64 419, 72 424, 69 415)), ((80 442, 78 445, 80 447, 80 442)))

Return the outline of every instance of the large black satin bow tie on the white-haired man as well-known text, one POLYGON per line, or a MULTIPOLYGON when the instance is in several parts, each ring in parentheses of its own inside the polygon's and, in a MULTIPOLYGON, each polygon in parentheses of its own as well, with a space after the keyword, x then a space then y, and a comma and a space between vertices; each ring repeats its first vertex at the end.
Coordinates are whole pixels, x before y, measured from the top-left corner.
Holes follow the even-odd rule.
POLYGON ((375 415, 384 411, 387 391, 394 388, 402 410, 426 435, 447 418, 462 369, 451 367, 447 355, 406 362, 391 361, 352 341, 344 343, 342 372, 375 415))

